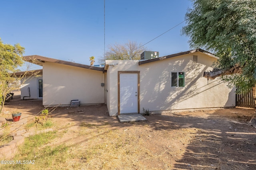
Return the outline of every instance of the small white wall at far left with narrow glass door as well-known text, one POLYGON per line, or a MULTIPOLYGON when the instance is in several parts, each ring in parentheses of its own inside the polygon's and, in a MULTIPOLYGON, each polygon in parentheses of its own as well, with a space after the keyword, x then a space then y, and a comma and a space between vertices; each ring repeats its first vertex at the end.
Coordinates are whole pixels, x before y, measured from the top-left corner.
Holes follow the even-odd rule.
MULTIPOLYGON (((29 75, 27 75, 27 77, 28 76, 29 75)), ((26 80, 25 82, 24 82, 24 79, 21 80, 21 85, 20 85, 21 99, 23 99, 24 96, 29 96, 29 91, 30 91, 30 97, 24 97, 24 99, 38 99, 38 79, 43 79, 42 74, 38 74, 37 77, 32 76, 31 78, 28 78, 28 80, 26 80)))

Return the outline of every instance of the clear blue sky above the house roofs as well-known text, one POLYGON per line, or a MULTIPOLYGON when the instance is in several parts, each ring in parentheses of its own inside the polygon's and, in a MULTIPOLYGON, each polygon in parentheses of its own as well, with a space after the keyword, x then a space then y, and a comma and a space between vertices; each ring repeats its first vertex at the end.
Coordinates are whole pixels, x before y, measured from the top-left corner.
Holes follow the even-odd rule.
MULTIPOLYGON (((2 0, 0 38, 24 55, 90 64, 104 55, 104 0, 2 0)), ((105 0, 105 49, 145 44, 184 21, 190 0, 105 0)), ((190 50, 185 22, 145 46, 160 57, 190 50)))

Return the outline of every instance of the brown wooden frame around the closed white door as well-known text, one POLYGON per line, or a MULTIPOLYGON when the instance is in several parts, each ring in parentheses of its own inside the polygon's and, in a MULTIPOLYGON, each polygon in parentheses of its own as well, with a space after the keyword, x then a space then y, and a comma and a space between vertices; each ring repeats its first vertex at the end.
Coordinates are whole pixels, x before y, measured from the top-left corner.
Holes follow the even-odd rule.
POLYGON ((140 113, 140 71, 118 71, 118 115, 120 115, 120 74, 122 73, 134 73, 137 74, 138 78, 138 111, 140 113))

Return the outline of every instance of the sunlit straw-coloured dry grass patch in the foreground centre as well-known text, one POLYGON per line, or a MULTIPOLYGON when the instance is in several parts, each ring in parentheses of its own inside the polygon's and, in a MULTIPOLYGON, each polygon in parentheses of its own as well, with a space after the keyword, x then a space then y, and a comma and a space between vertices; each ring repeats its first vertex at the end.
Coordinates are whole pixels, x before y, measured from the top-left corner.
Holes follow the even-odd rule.
POLYGON ((70 147, 70 159, 66 162, 66 167, 172 169, 172 160, 174 157, 182 156, 185 145, 192 137, 191 134, 196 131, 152 131, 148 125, 132 126, 137 128, 113 128, 105 124, 82 123, 79 135, 84 134, 84 141, 76 147, 70 147), (177 135, 168 137, 170 133, 177 135))

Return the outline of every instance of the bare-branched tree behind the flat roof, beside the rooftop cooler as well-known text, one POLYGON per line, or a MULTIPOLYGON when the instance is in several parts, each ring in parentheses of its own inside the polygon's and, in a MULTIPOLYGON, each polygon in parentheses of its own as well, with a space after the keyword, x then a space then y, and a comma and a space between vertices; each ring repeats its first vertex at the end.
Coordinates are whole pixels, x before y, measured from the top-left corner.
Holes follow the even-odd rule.
POLYGON ((108 46, 108 51, 105 57, 99 59, 100 63, 105 63, 105 60, 139 60, 140 54, 148 49, 141 43, 128 41, 125 44, 112 44, 108 46))

